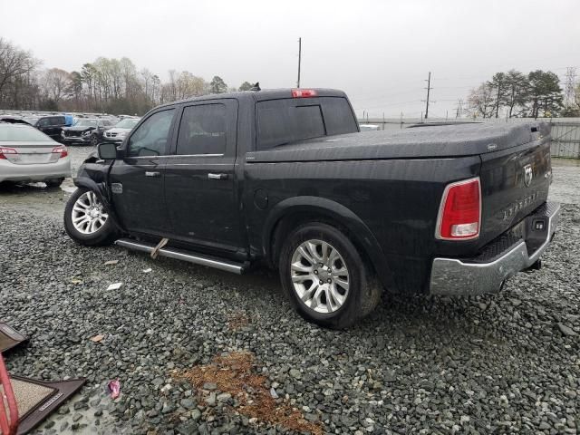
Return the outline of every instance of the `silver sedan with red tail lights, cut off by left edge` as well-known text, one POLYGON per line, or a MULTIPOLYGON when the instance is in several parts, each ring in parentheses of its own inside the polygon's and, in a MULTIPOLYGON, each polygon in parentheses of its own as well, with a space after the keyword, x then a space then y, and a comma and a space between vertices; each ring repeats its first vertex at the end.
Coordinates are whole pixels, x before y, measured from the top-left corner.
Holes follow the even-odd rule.
POLYGON ((0 182, 44 181, 60 186, 71 177, 71 159, 62 144, 25 124, 0 122, 0 182))

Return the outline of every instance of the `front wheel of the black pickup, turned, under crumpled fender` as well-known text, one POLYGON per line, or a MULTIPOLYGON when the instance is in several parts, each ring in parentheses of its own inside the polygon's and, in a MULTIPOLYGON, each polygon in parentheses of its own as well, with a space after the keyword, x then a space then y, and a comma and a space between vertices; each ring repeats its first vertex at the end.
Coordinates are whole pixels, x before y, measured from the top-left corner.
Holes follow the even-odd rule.
POLYGON ((87 247, 111 245, 117 238, 109 211, 89 189, 76 189, 67 201, 64 229, 76 243, 87 247))

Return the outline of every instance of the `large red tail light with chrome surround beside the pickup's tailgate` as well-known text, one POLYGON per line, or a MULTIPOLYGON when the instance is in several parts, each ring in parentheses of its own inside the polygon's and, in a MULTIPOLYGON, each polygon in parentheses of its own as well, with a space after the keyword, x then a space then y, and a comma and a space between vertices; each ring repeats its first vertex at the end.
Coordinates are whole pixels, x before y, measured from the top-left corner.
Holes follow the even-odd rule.
POLYGON ((481 185, 479 178, 451 183, 443 192, 435 237, 469 240, 481 227, 481 185))

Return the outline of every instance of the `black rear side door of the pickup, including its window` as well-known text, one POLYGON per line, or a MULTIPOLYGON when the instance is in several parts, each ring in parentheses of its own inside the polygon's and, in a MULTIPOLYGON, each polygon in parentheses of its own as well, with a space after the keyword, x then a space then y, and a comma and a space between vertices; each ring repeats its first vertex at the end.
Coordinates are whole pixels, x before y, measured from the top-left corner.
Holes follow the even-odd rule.
POLYGON ((165 196, 174 237, 237 251, 243 247, 234 166, 237 100, 183 106, 166 166, 165 196))

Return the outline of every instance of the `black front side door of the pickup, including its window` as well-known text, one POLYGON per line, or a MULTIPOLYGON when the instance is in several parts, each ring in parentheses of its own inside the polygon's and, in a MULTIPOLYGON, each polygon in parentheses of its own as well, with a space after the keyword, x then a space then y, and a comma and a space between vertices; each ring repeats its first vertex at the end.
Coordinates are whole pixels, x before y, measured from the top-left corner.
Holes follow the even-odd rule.
POLYGON ((125 142, 124 158, 115 160, 109 180, 113 207, 131 232, 170 233, 163 183, 175 108, 150 114, 125 142))

